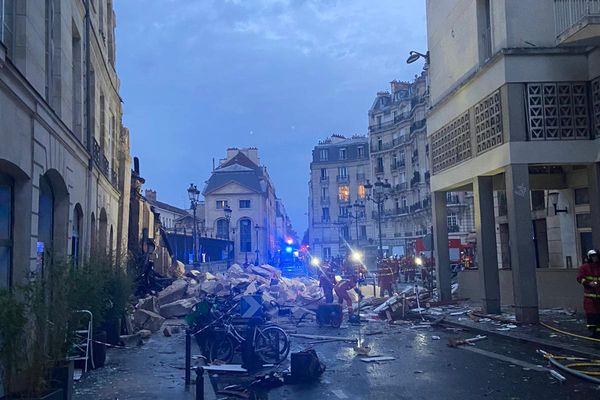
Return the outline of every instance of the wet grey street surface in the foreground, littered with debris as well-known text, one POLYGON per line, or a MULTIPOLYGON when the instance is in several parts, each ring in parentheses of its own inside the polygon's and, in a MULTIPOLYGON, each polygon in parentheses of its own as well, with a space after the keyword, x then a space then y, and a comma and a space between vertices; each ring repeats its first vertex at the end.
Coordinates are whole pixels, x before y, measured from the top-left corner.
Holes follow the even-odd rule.
MULTIPOLYGON (((447 346, 449 338, 472 337, 475 333, 456 333, 444 327, 413 329, 408 323, 368 322, 360 327, 341 329, 318 328, 307 323, 294 329, 298 333, 351 337, 358 337, 360 330, 365 345, 371 348, 370 355, 396 359, 367 364, 356 357, 351 344, 330 342, 310 346, 308 343, 314 340, 293 338, 292 351, 313 347, 327 370, 313 384, 285 385, 255 398, 600 398, 600 387, 566 373, 562 374, 567 381, 558 383, 544 369, 543 357, 536 354, 540 346, 532 343, 490 336, 476 346, 450 348, 447 346), (364 336, 377 331, 384 333, 364 336)), ((184 386, 184 343, 183 333, 170 338, 157 334, 142 347, 110 350, 106 368, 92 371, 78 382, 74 399, 194 398, 186 393, 184 386)), ((288 366, 283 364, 279 369, 288 366)), ((252 378, 221 375, 211 380, 222 388, 229 383, 249 383, 252 378)), ((218 395, 218 398, 226 396, 218 395)))

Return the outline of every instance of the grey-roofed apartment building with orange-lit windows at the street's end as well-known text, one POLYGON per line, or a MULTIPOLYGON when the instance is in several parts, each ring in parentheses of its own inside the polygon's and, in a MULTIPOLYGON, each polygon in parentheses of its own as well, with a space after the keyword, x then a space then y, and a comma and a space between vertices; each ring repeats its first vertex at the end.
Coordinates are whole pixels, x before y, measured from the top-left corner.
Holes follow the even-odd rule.
POLYGON ((308 198, 310 251, 328 260, 348 246, 367 245, 365 183, 370 179, 369 142, 365 136, 332 135, 312 151, 308 198))

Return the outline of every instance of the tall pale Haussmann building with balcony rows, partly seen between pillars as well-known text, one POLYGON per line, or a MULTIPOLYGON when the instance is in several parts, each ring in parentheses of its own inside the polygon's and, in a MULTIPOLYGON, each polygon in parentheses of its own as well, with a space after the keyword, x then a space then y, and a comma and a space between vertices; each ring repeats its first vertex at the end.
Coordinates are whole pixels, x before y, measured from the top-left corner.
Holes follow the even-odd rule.
MULTIPOLYGON (((383 207, 382 245, 387 255, 415 254, 431 233, 430 151, 425 114, 427 72, 413 82, 394 80, 379 92, 369 110, 369 142, 373 180, 387 180, 391 191, 383 207)), ((472 199, 468 192, 447 194, 450 238, 472 241, 472 199)), ((377 239, 377 207, 370 205, 373 239, 377 239)), ((458 261, 458 260, 453 260, 458 261)))

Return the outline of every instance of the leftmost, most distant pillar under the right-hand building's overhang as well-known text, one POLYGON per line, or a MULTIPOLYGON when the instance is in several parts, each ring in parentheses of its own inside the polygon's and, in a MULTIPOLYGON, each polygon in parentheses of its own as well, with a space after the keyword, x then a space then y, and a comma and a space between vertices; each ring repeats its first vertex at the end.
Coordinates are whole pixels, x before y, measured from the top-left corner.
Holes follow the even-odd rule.
POLYGON ((437 288, 440 301, 452 300, 450 255, 448 253, 448 211, 446 192, 433 192, 432 196, 434 257, 437 273, 437 288))

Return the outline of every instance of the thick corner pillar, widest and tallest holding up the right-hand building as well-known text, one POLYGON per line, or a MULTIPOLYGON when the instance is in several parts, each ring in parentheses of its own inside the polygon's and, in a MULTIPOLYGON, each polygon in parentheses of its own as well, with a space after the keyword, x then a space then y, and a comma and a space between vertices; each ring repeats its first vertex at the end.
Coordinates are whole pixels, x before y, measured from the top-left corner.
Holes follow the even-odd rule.
POLYGON ((529 168, 527 164, 511 164, 505 174, 515 313, 519 322, 536 323, 539 316, 529 168))

